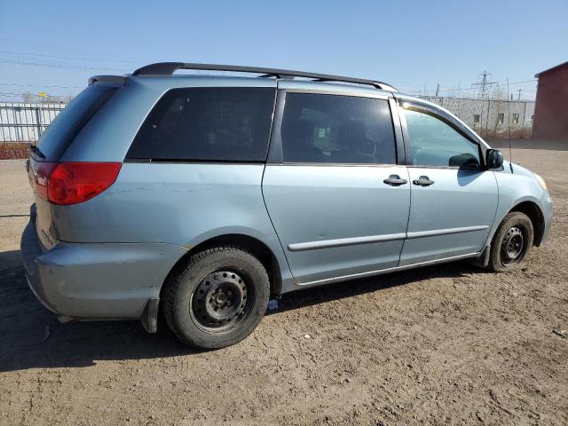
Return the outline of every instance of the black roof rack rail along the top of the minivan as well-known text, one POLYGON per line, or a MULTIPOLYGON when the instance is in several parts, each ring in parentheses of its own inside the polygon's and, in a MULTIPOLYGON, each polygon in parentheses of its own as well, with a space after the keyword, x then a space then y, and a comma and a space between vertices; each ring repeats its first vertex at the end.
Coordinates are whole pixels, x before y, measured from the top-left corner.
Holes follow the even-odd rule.
POLYGON ((328 75, 317 73, 306 73, 304 71, 292 71, 289 69, 264 68, 264 67, 243 67, 239 65, 216 65, 216 64, 192 64, 184 62, 158 62, 146 65, 146 67, 138 68, 132 75, 172 75, 178 69, 195 69, 206 71, 232 71, 239 73, 255 73, 260 77, 276 77, 276 78, 294 78, 304 77, 312 78, 318 82, 342 82, 367 84, 383 91, 397 91, 390 84, 376 82, 375 80, 367 80, 364 78, 343 77, 341 75, 328 75))

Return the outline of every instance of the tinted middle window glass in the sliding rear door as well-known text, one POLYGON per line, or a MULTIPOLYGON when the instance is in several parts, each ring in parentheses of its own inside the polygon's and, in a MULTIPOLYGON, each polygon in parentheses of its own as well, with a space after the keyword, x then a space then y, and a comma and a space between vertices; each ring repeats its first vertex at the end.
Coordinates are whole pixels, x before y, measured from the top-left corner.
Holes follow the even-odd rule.
POLYGON ((396 163, 384 99, 288 93, 280 134, 284 162, 396 163))

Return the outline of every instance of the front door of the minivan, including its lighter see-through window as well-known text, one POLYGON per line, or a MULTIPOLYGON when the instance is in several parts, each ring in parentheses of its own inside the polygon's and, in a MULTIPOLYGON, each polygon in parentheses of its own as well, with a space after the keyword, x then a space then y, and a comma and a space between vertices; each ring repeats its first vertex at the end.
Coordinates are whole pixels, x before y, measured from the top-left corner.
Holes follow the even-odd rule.
MULTIPOLYGON (((480 146, 447 117, 405 103, 411 210, 400 264, 475 254, 484 248, 497 209, 497 182, 480 146)), ((406 126, 404 122, 406 121, 406 126)))

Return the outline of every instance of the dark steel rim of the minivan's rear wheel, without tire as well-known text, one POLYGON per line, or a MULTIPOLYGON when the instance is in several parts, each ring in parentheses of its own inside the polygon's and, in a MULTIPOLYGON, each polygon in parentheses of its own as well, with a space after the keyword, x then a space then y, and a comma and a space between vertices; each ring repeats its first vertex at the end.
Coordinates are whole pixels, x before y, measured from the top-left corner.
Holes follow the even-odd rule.
POLYGON ((193 290, 190 313, 198 327, 210 333, 225 332, 247 312, 248 288, 237 272, 211 272, 193 290))

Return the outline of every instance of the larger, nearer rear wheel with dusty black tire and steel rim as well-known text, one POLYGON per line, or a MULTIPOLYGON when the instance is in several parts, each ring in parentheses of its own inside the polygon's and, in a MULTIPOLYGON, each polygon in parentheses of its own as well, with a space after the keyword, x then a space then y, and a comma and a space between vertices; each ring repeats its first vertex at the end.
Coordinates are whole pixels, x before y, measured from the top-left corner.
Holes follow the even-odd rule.
POLYGON ((164 285, 168 325, 183 343, 202 349, 241 342, 264 317, 270 296, 264 265, 230 245, 194 254, 164 285))

